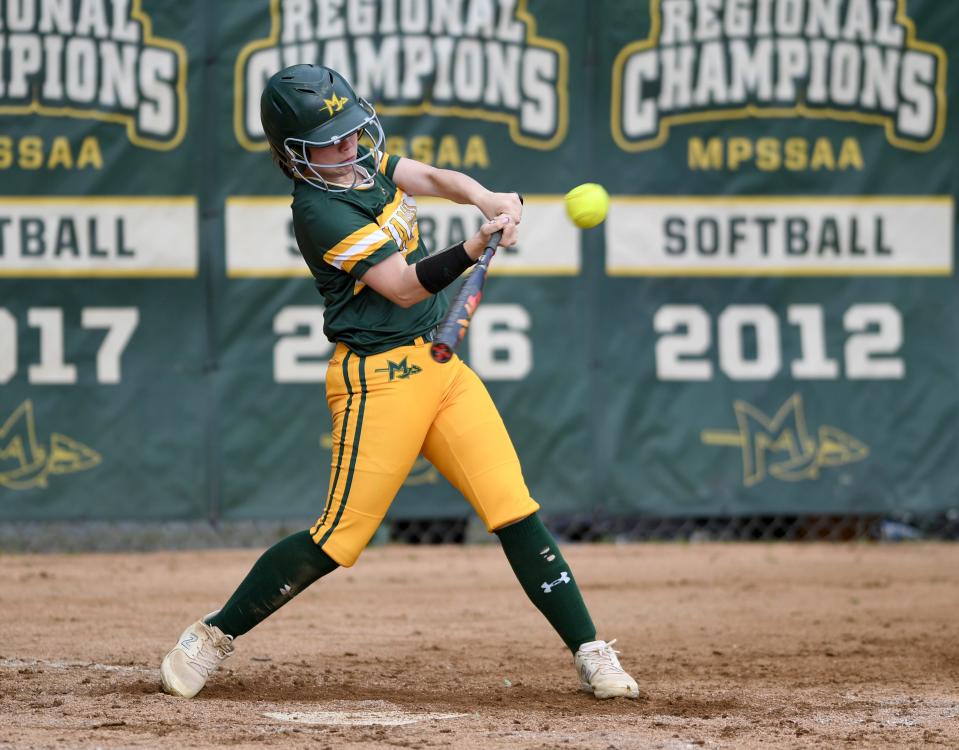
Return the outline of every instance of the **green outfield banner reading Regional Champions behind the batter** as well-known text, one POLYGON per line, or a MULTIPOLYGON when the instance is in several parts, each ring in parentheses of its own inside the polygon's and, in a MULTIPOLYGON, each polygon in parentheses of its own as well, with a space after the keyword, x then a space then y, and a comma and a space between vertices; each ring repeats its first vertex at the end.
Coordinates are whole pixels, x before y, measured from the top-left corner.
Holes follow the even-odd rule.
MULTIPOLYGON (((526 197, 463 356, 545 512, 959 508, 957 56, 936 0, 5 2, 0 520, 320 512, 332 345, 259 121, 301 62, 526 197)), ((421 459, 391 514, 469 508, 421 459)))

